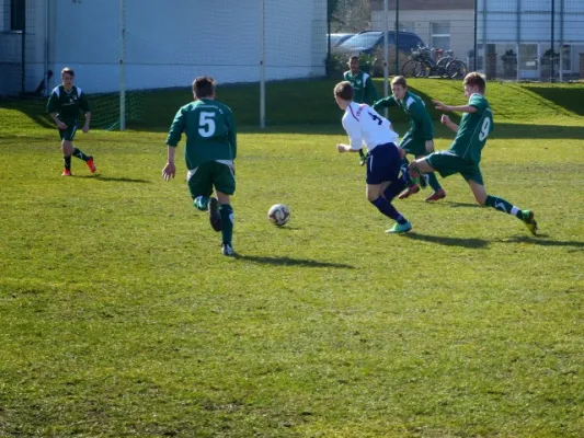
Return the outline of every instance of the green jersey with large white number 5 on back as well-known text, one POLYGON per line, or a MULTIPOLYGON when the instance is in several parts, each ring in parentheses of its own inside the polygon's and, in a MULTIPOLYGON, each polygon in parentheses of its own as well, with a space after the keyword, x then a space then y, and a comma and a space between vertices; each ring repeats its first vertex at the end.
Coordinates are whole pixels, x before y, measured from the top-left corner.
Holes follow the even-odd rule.
POLYGON ((174 116, 167 145, 176 147, 183 132, 186 136, 184 157, 188 170, 211 161, 236 159, 236 122, 227 105, 210 99, 184 105, 174 116))

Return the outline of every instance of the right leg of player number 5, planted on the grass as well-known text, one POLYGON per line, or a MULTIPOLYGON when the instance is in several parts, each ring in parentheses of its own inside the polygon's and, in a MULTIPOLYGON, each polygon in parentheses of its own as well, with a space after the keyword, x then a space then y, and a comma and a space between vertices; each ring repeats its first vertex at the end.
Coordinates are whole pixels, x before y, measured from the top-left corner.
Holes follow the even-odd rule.
MULTIPOLYGON (((233 165, 213 163, 213 184, 219 201, 219 218, 221 229, 221 252, 224 255, 233 256, 233 207, 231 196, 236 193, 236 173, 233 165)), ((213 217, 209 217, 213 221, 213 217)), ((213 223, 213 222, 211 222, 213 223)))

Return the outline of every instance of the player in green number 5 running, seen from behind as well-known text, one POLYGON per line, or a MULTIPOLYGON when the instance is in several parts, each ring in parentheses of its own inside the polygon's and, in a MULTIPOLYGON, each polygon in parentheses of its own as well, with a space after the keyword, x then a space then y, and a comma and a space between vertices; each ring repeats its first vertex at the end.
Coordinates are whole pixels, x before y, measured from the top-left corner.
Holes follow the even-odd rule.
POLYGON ((184 132, 186 180, 193 205, 202 211, 209 211, 213 229, 221 231, 222 254, 234 256, 230 197, 236 192, 236 122, 231 110, 215 99, 215 90, 216 82, 210 77, 194 80, 194 101, 179 110, 170 127, 168 161, 162 177, 169 181, 176 173, 174 152, 184 132), (214 188, 217 198, 211 197, 214 188))

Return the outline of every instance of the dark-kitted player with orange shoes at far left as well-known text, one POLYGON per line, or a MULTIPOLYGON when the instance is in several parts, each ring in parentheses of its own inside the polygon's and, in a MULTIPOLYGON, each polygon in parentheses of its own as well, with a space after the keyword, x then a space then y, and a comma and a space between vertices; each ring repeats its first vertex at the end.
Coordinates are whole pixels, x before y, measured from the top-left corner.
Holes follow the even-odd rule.
POLYGON ((79 123, 79 111, 85 114, 85 123, 81 128, 83 132, 87 134, 89 131, 91 122, 88 99, 79 87, 73 85, 73 82, 75 71, 69 67, 64 68, 61 70, 61 84, 53 90, 47 103, 47 113, 57 124, 57 128, 59 128, 65 163, 62 176, 71 176, 71 155, 83 160, 91 173, 95 173, 93 157, 85 155, 72 143, 79 123))

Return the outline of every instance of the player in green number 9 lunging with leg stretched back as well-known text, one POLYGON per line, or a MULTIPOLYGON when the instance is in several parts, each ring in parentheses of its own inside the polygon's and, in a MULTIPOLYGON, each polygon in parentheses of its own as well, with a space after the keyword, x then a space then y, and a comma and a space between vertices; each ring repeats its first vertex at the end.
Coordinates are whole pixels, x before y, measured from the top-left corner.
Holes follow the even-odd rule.
POLYGON ((410 175, 414 180, 420 180, 421 173, 436 171, 444 177, 459 173, 468 182, 474 199, 481 207, 492 207, 515 216, 525 223, 531 234, 536 235, 537 222, 531 210, 522 210, 503 198, 486 194, 479 164, 486 137, 493 130, 493 112, 484 99, 486 82, 480 73, 468 73, 463 85, 465 95, 469 99, 467 105, 450 106, 433 101, 437 110, 463 113, 460 126, 447 115, 442 116, 440 122, 457 132, 454 142, 448 150, 415 160, 410 164, 410 175))

